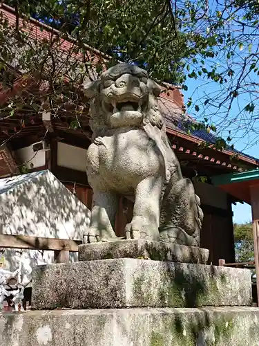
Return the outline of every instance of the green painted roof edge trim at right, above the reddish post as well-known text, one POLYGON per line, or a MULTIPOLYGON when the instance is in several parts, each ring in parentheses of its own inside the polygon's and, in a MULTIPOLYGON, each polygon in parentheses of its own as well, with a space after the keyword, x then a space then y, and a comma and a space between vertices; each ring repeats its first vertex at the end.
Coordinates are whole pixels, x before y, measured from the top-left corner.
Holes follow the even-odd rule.
POLYGON ((222 174, 218 176, 212 176, 211 181, 213 185, 229 185, 231 183, 242 183, 244 181, 259 179, 259 169, 249 170, 246 172, 222 174))

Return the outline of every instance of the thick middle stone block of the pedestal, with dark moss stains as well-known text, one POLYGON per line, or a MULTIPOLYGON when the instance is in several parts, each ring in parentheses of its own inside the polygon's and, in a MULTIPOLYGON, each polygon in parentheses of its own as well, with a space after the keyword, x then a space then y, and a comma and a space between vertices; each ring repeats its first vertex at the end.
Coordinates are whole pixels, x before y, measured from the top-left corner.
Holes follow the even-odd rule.
POLYGON ((249 270, 148 260, 98 260, 39 266, 34 309, 247 306, 249 270))

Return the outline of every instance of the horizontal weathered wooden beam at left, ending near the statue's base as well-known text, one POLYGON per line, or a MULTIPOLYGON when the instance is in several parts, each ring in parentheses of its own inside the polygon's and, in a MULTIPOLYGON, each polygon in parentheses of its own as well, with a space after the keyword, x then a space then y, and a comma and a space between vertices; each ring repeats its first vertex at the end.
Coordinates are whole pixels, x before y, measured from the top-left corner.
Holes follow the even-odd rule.
POLYGON ((0 248, 23 248, 32 250, 77 252, 82 242, 71 239, 30 237, 29 235, 0 234, 0 248))

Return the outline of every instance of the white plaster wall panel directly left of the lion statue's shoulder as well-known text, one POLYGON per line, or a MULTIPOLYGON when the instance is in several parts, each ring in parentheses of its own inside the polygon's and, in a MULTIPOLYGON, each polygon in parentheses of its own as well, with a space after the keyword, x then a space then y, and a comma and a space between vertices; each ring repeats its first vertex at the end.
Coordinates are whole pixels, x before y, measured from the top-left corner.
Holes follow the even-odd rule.
POLYGON ((57 165, 86 172, 86 149, 58 142, 57 165))

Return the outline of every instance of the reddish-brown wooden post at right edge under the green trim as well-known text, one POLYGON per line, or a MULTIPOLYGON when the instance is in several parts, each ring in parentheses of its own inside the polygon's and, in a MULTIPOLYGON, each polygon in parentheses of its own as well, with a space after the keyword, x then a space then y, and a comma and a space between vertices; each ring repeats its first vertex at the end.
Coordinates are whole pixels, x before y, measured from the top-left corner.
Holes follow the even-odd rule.
POLYGON ((252 206, 253 244, 254 244, 254 260, 256 264, 256 289, 257 289, 257 304, 258 304, 259 302, 259 185, 250 187, 250 196, 251 196, 251 206, 252 206))

